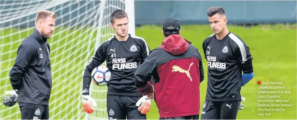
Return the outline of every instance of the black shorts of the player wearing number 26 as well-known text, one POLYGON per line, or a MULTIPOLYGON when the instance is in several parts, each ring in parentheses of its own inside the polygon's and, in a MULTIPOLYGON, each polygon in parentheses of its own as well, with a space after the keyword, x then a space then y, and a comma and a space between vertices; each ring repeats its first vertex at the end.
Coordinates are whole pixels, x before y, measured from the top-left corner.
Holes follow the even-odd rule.
POLYGON ((238 113, 240 100, 233 101, 210 101, 205 100, 201 120, 223 119, 235 120, 238 113))

